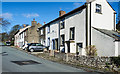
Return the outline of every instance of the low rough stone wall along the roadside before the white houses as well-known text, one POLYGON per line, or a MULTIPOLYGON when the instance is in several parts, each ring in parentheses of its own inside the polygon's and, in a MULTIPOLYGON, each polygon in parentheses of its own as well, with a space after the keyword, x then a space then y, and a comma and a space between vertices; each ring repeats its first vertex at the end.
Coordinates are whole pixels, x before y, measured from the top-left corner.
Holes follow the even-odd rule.
POLYGON ((55 58, 63 61, 68 61, 76 65, 83 65, 89 67, 104 68, 106 63, 111 63, 109 57, 88 57, 88 56, 75 56, 74 54, 55 53, 55 58), (68 59, 67 59, 68 58, 68 59))

